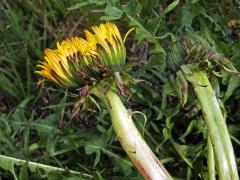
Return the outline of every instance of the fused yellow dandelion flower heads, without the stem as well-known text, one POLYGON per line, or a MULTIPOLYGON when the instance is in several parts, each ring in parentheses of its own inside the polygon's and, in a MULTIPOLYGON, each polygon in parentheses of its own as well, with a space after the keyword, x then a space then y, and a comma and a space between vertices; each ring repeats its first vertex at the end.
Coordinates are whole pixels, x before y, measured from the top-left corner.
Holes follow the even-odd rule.
POLYGON ((36 73, 70 88, 121 71, 126 49, 117 26, 107 22, 92 30, 84 31, 86 40, 73 37, 57 43, 57 49, 45 49, 45 61, 38 62, 36 73))

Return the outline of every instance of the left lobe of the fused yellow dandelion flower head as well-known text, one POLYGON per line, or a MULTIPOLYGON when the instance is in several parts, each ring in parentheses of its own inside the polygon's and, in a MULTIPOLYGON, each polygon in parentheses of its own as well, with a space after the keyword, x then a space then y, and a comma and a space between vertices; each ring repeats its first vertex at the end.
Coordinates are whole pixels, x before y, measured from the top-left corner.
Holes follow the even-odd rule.
MULTIPOLYGON (((78 87, 81 83, 80 61, 91 54, 91 47, 84 39, 73 37, 57 43, 57 49, 45 49, 44 60, 36 73, 63 87, 78 87)), ((94 52, 92 53, 94 54, 94 52)))

